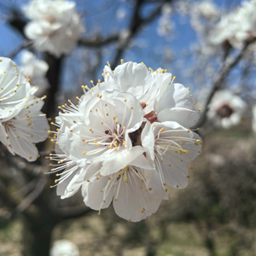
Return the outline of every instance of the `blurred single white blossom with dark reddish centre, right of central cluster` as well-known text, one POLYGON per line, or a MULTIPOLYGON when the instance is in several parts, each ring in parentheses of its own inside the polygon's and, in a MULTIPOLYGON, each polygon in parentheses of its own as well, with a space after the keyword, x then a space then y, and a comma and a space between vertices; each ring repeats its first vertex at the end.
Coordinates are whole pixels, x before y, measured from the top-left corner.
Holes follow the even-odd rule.
POLYGON ((230 129, 240 123, 245 108, 246 103, 240 96, 233 95, 229 90, 219 90, 212 97, 207 117, 214 125, 230 129))

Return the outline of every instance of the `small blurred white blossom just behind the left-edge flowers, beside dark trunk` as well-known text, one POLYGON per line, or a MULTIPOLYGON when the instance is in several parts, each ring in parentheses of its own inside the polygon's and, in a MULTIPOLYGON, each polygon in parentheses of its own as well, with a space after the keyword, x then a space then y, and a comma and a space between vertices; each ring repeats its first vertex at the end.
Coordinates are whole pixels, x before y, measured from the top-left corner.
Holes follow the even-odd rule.
POLYGON ((49 81, 46 78, 48 69, 49 65, 45 61, 39 60, 28 50, 23 51, 20 59, 20 71, 30 79, 30 84, 38 86, 37 96, 42 96, 44 91, 49 88, 49 81))

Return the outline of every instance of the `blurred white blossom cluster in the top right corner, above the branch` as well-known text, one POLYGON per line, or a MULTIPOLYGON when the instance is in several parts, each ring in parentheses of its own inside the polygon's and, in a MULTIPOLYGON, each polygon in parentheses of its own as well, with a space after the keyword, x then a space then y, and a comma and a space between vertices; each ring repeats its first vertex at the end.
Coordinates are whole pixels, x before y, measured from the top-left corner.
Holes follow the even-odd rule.
POLYGON ((225 15, 209 34, 211 44, 229 43, 241 49, 246 41, 256 36, 256 1, 241 3, 241 7, 225 15))

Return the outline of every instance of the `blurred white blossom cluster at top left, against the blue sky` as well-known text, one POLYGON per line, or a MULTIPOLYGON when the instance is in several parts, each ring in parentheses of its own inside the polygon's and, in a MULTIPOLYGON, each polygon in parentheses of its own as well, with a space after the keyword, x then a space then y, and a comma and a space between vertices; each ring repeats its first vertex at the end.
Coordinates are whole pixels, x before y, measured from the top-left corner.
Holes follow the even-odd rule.
POLYGON ((70 53, 79 40, 84 26, 76 12, 76 3, 35 0, 23 8, 30 20, 25 27, 26 37, 34 40, 39 51, 59 57, 70 53))

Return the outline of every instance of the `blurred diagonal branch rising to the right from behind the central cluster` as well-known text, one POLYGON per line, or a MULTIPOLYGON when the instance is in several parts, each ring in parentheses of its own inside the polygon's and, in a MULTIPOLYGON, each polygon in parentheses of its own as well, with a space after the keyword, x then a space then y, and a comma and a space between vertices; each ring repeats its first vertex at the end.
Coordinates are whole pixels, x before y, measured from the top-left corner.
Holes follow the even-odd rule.
POLYGON ((256 41, 256 38, 254 38, 252 41, 248 41, 243 49, 241 49, 241 52, 236 55, 236 58, 233 59, 233 61, 225 61, 223 66, 220 68, 217 76, 215 77, 215 79, 213 79, 213 85, 212 85, 212 90, 207 98, 207 102, 205 105, 205 108, 203 110, 203 113, 201 114, 201 119, 199 120, 199 123, 197 123, 196 126, 202 126, 205 124, 206 120, 207 120, 207 111, 208 111, 208 107, 210 102, 212 101, 212 97, 214 96, 215 92, 217 90, 220 89, 221 85, 224 82, 224 79, 228 76, 228 74, 230 73, 231 69, 233 67, 236 67, 236 65, 238 64, 239 61, 241 61, 241 58, 243 57, 243 55, 245 54, 247 47, 249 44, 252 44, 253 42, 256 41))

